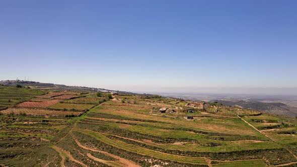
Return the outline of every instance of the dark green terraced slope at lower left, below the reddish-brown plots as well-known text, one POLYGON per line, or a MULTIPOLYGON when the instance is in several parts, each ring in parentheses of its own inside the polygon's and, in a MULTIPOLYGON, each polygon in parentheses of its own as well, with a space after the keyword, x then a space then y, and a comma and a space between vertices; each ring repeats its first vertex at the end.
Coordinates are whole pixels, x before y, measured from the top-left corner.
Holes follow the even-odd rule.
POLYGON ((70 118, 45 118, 26 115, 26 111, 22 111, 22 114, 13 112, 15 114, 0 115, 1 164, 8 166, 59 164, 61 157, 50 147, 50 141, 69 126, 70 118))

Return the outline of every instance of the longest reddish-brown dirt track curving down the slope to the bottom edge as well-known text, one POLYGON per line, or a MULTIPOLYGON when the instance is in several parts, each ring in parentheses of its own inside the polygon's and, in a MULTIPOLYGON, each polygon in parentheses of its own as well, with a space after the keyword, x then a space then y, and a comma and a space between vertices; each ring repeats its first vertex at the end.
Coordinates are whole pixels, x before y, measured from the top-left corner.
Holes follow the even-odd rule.
MULTIPOLYGON (((78 141, 78 139, 75 138, 75 136, 72 135, 72 137, 73 137, 73 139, 75 139, 75 141, 76 141, 76 143, 78 144, 78 146, 80 146, 80 147, 82 147, 82 148, 84 148, 84 149, 87 149, 87 150, 90 150, 90 151, 94 151, 94 152, 100 152, 100 153, 106 154, 106 155, 108 155, 108 156, 111 156, 111 157, 113 157, 113 158, 116 158, 116 159, 118 159, 118 162, 121 163, 121 164, 123 164, 124 166, 129 166, 129 167, 140 167, 140 165, 134 163, 133 161, 130 161, 130 160, 125 159, 125 158, 122 158, 122 157, 120 157, 120 156, 111 154, 111 153, 106 152, 106 151, 101 151, 101 150, 97 150, 97 149, 93 149, 93 148, 86 147, 86 146, 82 145, 82 144, 78 141)), ((88 155, 88 156, 89 156, 89 155, 88 155)), ((91 155, 91 156, 92 156, 92 155, 91 155)), ((95 157, 95 158, 96 158, 96 157, 95 157)), ((97 159, 99 159, 99 158, 97 158, 97 159)), ((95 160, 95 159, 94 159, 94 160, 95 160)), ((103 159, 101 159, 101 160, 103 160, 103 159)))

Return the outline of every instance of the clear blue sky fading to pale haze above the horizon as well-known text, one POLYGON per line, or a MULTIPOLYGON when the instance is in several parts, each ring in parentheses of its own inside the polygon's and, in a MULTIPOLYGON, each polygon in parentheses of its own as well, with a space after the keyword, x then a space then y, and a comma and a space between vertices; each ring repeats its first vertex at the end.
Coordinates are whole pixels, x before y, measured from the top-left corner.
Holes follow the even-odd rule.
POLYGON ((296 9, 289 0, 2 1, 0 80, 297 93, 296 9))

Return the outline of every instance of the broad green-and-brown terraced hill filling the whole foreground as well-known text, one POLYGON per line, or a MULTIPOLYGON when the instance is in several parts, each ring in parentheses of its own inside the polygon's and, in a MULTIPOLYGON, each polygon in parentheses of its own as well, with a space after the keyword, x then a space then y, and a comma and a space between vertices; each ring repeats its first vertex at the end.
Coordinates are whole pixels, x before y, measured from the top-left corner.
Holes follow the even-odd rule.
POLYGON ((130 95, 110 99, 85 94, 57 104, 74 106, 65 111, 53 111, 56 106, 43 110, 84 113, 44 118, 9 114, 19 108, 1 111, 0 164, 297 165, 295 119, 220 104, 130 95), (93 107, 83 111, 75 104, 93 107))

